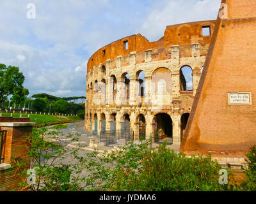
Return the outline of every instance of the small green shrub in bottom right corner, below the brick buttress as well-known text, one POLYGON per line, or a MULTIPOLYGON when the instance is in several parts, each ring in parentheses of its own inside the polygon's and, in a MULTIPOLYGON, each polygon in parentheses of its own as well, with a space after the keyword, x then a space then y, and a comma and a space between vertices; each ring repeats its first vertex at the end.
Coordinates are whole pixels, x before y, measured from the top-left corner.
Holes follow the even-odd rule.
POLYGON ((246 181, 241 185, 242 191, 256 191, 256 145, 250 147, 246 154, 248 168, 244 169, 246 181))

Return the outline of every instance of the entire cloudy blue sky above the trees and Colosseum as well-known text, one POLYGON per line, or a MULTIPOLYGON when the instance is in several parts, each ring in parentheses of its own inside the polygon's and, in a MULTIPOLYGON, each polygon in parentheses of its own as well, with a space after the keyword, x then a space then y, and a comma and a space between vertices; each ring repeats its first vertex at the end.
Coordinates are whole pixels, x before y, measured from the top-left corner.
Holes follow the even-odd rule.
POLYGON ((29 96, 85 96, 87 60, 131 34, 159 40, 166 25, 214 20, 221 0, 0 0, 0 63, 19 66, 29 96), (29 3, 36 18, 28 18, 29 3))

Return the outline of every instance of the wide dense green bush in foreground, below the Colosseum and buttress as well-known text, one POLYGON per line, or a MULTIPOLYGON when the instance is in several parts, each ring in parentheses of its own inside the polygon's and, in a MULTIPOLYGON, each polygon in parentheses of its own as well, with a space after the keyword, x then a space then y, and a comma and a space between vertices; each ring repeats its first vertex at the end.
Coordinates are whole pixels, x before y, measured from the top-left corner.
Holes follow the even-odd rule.
POLYGON ((221 166, 210 156, 186 157, 166 145, 151 152, 148 143, 131 143, 117 154, 106 154, 100 162, 92 159, 88 166, 93 172, 88 185, 98 191, 227 190, 219 184, 221 166))

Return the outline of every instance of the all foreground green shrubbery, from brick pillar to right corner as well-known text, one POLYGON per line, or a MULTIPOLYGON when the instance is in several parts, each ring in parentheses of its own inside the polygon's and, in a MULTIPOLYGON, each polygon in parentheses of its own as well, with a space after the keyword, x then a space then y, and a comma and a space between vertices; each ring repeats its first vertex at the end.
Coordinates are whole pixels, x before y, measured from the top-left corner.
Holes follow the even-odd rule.
MULTIPOLYGON (((68 135, 79 141, 79 135, 68 135)), ((33 129, 32 138, 26 138, 31 157, 31 168, 36 170, 32 191, 234 191, 232 175, 228 170, 228 185, 219 184, 220 164, 211 156, 174 154, 164 145, 150 149, 150 141, 129 143, 118 152, 94 151, 79 155, 77 149, 68 149, 58 142, 60 132, 47 128, 33 129), (54 142, 55 141, 55 142, 54 142), (65 162, 65 159, 72 162, 65 162), (82 173, 85 172, 85 175, 82 173)), ((248 182, 241 190, 255 191, 256 147, 246 155, 248 182), (254 186, 253 186, 254 185, 254 186)), ((24 166, 19 161, 15 171, 24 166)), ((26 170, 18 171, 26 184, 26 170)))

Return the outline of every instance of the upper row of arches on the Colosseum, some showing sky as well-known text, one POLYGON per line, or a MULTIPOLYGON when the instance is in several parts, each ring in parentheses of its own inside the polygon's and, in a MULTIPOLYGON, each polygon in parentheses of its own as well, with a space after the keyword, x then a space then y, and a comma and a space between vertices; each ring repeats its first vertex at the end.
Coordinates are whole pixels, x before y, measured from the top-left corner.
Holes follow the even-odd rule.
MULTIPOLYGON (((201 74, 202 70, 204 67, 201 69, 201 74)), ((106 67, 103 65, 102 68, 100 69, 102 75, 106 75, 106 67)), ((124 94, 127 99, 129 99, 129 94, 130 94, 130 75, 128 72, 122 73, 121 75, 121 81, 124 82, 124 94)), ((98 80, 94 81, 94 86, 93 82, 90 82, 88 84, 88 87, 86 89, 89 98, 93 98, 93 89, 95 92, 99 91, 102 89, 102 92, 105 92, 105 97, 104 97, 104 102, 106 102, 106 79, 102 78, 100 80, 101 86, 98 85, 98 80)), ((143 70, 139 70, 136 72, 136 82, 138 82, 139 87, 138 87, 138 92, 136 91, 136 96, 145 96, 145 72, 143 70)), ((154 91, 155 93, 157 92, 169 92, 172 93, 172 73, 170 69, 168 68, 157 68, 155 71, 152 73, 151 76, 151 82, 154 83, 154 91)), ((109 94, 113 95, 113 101, 115 101, 116 97, 116 84, 117 84, 117 79, 115 75, 111 75, 109 78, 109 94)), ((190 66, 182 66, 180 68, 180 91, 193 91, 193 70, 190 66)))

